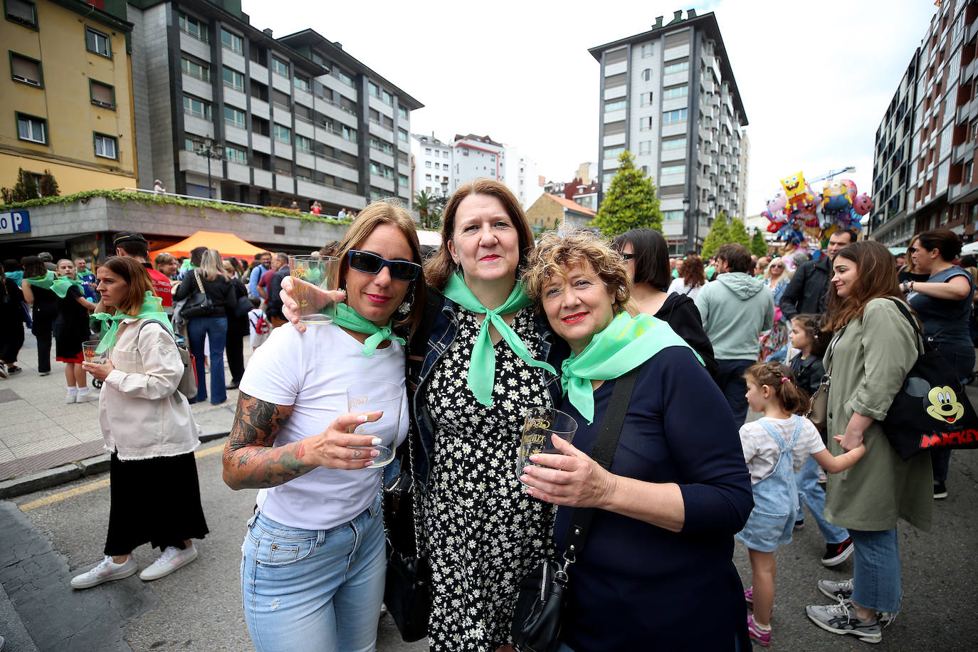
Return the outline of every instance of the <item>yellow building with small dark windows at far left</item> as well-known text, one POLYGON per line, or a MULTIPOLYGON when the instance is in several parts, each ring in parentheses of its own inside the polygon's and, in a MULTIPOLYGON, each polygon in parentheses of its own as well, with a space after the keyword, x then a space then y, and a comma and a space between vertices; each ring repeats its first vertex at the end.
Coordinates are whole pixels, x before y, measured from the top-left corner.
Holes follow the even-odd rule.
MULTIPOLYGON (((4 0, 0 186, 50 170, 62 195, 136 180, 132 24, 104 3, 4 0)), ((152 187, 152 183, 151 183, 152 187)))

